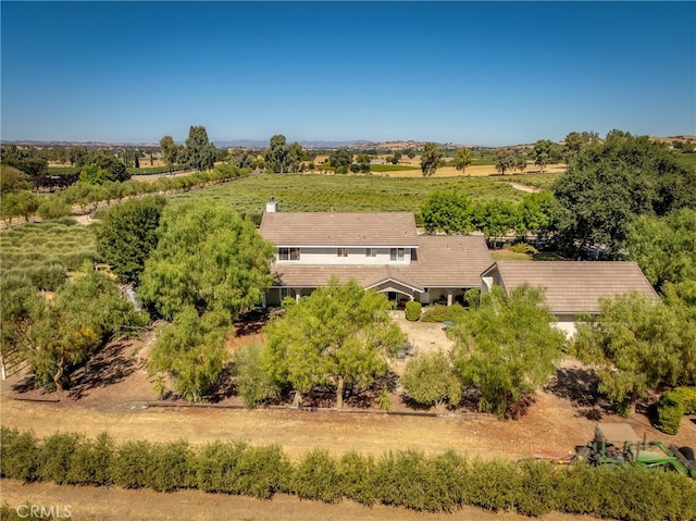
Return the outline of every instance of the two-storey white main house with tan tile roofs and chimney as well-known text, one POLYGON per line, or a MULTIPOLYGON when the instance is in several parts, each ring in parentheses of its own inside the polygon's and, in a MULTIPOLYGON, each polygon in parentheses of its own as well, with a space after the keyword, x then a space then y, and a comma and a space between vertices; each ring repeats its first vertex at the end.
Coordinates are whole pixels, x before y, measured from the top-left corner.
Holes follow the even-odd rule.
POLYGON ((483 237, 419 235, 406 212, 279 212, 272 199, 259 231, 276 247, 276 281, 265 306, 299 299, 332 276, 396 302, 451 305, 480 287, 481 272, 493 262, 483 237))

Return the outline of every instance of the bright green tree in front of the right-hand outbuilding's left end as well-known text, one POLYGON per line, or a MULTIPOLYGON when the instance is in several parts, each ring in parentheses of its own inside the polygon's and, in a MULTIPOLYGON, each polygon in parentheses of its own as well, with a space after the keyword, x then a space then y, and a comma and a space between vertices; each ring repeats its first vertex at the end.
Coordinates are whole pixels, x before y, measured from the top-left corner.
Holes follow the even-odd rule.
POLYGON ((481 393, 478 408, 508 415, 510 407, 548 382, 566 336, 538 288, 519 286, 509 295, 494 287, 448 330, 452 360, 463 385, 481 393))

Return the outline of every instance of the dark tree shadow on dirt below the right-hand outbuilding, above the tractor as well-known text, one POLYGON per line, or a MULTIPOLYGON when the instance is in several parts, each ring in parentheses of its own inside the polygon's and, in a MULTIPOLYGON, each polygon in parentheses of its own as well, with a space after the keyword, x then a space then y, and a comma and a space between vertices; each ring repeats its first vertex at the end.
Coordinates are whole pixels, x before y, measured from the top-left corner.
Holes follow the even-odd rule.
POLYGON ((599 421, 604 414, 613 413, 611 402, 597 389, 599 377, 592 369, 558 369, 545 390, 569 400, 576 409, 576 417, 599 421))

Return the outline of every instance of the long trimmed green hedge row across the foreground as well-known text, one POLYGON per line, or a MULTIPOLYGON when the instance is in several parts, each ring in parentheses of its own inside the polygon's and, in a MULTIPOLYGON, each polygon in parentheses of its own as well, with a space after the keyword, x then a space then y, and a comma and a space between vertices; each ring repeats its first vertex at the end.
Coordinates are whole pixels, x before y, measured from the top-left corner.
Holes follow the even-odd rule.
POLYGON ((32 432, 5 427, 0 442, 2 476, 24 481, 160 492, 198 488, 258 498, 283 492, 325 503, 347 498, 431 512, 471 505, 527 516, 563 511, 627 521, 696 519, 696 483, 678 473, 630 466, 515 464, 469 459, 453 450, 436 456, 389 451, 378 458, 351 451, 336 458, 314 449, 293 462, 277 445, 116 446, 107 434, 95 441, 78 434, 39 441, 32 432))

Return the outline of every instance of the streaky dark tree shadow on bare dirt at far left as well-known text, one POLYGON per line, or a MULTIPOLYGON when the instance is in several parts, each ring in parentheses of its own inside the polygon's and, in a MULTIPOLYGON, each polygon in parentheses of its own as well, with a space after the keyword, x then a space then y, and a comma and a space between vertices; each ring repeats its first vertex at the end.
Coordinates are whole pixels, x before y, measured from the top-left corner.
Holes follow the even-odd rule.
POLYGON ((126 343, 114 342, 97 351, 71 374, 69 396, 80 399, 89 390, 122 382, 142 368, 145 362, 130 355, 127 347, 126 343))

